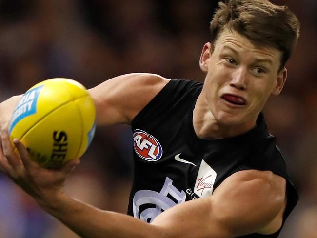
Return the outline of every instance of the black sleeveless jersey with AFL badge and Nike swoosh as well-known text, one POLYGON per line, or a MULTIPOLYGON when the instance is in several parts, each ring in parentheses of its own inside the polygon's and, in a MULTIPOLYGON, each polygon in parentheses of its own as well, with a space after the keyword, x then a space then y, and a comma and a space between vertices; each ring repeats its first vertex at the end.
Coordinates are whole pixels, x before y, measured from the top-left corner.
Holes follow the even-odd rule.
MULTIPOLYGON (((257 169, 286 179, 285 221, 297 203, 297 192, 262 113, 257 126, 244 134, 199 139, 192 121, 201 89, 201 83, 172 79, 133 119, 135 169, 128 214, 152 222, 176 204, 211 196, 230 175, 257 169)), ((279 232, 242 237, 276 238, 279 232)))

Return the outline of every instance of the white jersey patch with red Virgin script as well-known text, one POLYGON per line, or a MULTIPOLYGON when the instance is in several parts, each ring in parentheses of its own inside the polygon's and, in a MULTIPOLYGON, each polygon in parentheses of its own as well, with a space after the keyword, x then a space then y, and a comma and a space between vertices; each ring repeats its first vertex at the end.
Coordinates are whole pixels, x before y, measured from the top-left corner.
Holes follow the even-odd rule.
POLYGON ((211 196, 214 191, 216 177, 216 171, 205 160, 202 160, 198 170, 194 193, 200 198, 211 196))

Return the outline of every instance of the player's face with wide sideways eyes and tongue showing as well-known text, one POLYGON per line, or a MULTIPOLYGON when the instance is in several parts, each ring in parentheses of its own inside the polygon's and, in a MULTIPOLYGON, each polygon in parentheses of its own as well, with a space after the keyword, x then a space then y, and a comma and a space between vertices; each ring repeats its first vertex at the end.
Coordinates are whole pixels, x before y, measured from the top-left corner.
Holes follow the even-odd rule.
POLYGON ((224 125, 250 124, 271 94, 278 95, 286 80, 279 70, 281 52, 256 46, 236 32, 224 31, 214 46, 206 43, 200 68, 207 73, 206 101, 213 117, 224 125))

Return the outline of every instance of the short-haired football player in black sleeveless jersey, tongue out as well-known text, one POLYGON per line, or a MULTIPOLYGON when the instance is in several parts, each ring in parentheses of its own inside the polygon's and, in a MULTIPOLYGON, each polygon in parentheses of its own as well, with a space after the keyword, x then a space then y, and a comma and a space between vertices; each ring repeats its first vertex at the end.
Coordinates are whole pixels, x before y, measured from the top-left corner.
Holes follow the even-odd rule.
MULTIPOLYGON (((135 178, 127 215, 64 193, 79 160, 60 170, 20 157, 5 129, 19 96, 0 104, 0 168, 82 237, 276 238, 297 202, 263 114, 285 83, 296 16, 267 0, 219 3, 203 46, 204 84, 128 74, 89 90, 99 125, 130 124, 135 178)), ((159 63, 159 62, 158 62, 159 63)))

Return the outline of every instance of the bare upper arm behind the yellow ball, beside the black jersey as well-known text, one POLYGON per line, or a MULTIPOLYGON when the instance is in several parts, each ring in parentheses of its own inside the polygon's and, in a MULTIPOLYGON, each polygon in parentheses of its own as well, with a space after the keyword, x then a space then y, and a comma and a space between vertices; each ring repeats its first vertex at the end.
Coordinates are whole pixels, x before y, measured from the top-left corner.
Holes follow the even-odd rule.
POLYGON ((109 79, 88 92, 95 102, 99 125, 130 124, 169 80, 155 74, 126 74, 109 79))

